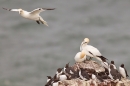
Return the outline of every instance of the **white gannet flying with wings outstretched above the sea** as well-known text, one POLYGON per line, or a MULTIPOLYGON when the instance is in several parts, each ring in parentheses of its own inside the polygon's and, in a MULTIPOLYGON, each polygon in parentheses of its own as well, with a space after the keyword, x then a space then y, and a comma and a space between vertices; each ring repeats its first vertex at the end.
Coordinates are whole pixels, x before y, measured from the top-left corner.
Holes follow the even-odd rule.
POLYGON ((46 26, 48 26, 47 22, 45 20, 43 20, 43 18, 39 15, 42 11, 45 10, 54 10, 55 8, 37 8, 34 9, 31 12, 25 11, 23 9, 7 9, 7 8, 3 8, 4 10, 8 10, 8 11, 17 11, 19 12, 19 14, 27 19, 31 19, 31 20, 35 20, 38 24, 40 24, 40 22, 46 26))

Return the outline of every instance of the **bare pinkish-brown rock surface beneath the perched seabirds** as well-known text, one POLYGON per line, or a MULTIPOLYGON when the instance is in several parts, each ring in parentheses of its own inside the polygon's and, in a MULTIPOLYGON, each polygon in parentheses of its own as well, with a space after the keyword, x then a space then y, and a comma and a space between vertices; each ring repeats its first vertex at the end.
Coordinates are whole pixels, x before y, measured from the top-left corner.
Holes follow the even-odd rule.
MULTIPOLYGON (((105 69, 96 61, 85 61, 82 63, 75 63, 73 66, 71 66, 75 71, 77 71, 79 68, 86 68, 88 72, 91 72, 91 70, 96 70, 96 72, 104 72, 105 69)), ((104 79, 103 82, 100 82, 97 80, 81 80, 79 78, 71 79, 71 80, 64 80, 59 81, 59 86, 130 86, 130 80, 128 79, 121 79, 119 80, 111 80, 111 79, 104 79)))

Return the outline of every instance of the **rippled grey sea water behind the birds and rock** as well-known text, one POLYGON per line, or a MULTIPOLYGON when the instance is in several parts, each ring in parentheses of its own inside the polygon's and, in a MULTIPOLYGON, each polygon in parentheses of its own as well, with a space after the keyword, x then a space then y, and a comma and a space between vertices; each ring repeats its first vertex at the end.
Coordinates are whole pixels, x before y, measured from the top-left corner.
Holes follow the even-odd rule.
POLYGON ((44 86, 86 37, 130 75, 130 0, 0 0, 0 86, 44 86), (47 27, 2 7, 56 9, 41 13, 47 27))

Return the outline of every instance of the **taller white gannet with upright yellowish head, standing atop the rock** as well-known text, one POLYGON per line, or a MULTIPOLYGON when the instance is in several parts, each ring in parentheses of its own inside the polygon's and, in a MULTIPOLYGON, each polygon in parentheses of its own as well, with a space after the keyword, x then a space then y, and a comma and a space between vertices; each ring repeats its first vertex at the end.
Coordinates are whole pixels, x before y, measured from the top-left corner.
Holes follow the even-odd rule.
MULTIPOLYGON (((86 39, 86 38, 85 38, 85 39, 86 39)), ((85 53, 86 53, 86 55, 89 56, 90 59, 91 59, 92 57, 94 57, 94 58, 98 59, 99 61, 107 60, 107 58, 105 58, 104 56, 102 56, 102 54, 100 53, 100 51, 99 51, 97 48, 95 48, 95 47, 93 47, 93 46, 91 46, 91 45, 87 45, 88 42, 89 42, 89 39, 87 38, 86 40, 84 40, 84 41, 81 43, 81 46, 80 46, 80 50, 81 50, 81 51, 84 50, 85 53), (86 41, 86 42, 85 42, 85 41, 86 41), (86 43, 86 44, 84 45, 84 43, 86 43)))

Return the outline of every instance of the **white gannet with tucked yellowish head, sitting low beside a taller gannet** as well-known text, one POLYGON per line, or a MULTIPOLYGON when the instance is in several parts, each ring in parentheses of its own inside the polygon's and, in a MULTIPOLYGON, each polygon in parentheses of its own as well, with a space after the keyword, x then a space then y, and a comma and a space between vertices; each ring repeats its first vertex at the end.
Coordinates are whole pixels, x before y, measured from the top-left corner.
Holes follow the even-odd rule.
POLYGON ((86 53, 85 51, 81 51, 81 52, 78 52, 76 55, 75 55, 75 62, 83 62, 86 60, 86 53))

